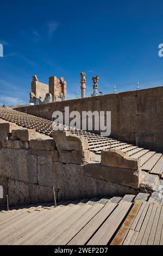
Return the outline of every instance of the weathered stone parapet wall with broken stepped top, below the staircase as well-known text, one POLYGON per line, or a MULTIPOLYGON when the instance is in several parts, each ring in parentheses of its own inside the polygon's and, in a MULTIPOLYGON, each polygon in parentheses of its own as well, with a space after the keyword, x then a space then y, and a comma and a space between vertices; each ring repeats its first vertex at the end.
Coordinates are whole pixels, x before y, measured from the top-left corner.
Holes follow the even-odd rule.
POLYGON ((64 131, 54 139, 36 139, 33 130, 8 124, 0 124, 0 204, 6 204, 7 194, 9 205, 52 202, 53 186, 58 201, 136 193, 139 188, 136 163, 133 168, 127 163, 110 167, 106 156, 103 165, 92 162, 86 138, 64 131))

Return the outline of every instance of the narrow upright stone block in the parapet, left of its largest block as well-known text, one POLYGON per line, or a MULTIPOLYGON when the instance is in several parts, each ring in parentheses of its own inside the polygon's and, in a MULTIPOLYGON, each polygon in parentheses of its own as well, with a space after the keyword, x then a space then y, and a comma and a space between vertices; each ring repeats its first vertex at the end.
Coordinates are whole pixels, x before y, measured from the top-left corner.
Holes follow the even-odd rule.
POLYGON ((37 158, 37 180, 40 185, 51 186, 52 182, 53 160, 50 157, 38 156, 37 158))

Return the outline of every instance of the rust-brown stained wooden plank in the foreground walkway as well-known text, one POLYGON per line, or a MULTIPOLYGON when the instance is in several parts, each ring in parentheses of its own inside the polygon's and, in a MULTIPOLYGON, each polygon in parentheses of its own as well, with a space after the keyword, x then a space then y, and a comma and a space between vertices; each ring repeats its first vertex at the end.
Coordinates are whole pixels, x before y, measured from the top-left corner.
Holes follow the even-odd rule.
POLYGON ((114 240, 112 240, 111 245, 122 245, 128 231, 129 231, 129 228, 130 228, 131 224, 135 220, 136 215, 137 215, 137 213, 139 212, 139 210, 141 208, 141 205, 142 205, 142 202, 140 202, 140 201, 138 201, 134 204, 134 206, 130 210, 126 220, 124 221, 122 227, 120 228, 120 230, 116 234, 114 240))

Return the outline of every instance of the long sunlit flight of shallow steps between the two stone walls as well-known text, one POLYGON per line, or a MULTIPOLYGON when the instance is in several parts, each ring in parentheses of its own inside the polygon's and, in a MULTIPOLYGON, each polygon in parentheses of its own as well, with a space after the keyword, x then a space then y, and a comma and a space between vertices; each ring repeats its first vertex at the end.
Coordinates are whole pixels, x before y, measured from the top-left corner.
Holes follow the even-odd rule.
MULTIPOLYGON (((0 118, 16 123, 19 126, 27 127, 28 129, 35 129, 36 132, 49 137, 53 137, 54 133, 52 124, 61 126, 61 124, 54 123, 50 120, 35 117, 34 115, 19 112, 7 107, 0 107, 0 118)), ((136 145, 121 142, 114 138, 96 135, 92 132, 75 129, 73 127, 64 127, 74 135, 86 137, 89 144, 89 150, 92 151, 92 153, 100 155, 103 149, 120 149, 123 153, 128 154, 128 156, 134 159, 140 159, 142 170, 160 175, 163 178, 163 155, 161 153, 156 153, 155 151, 143 149, 136 145)))

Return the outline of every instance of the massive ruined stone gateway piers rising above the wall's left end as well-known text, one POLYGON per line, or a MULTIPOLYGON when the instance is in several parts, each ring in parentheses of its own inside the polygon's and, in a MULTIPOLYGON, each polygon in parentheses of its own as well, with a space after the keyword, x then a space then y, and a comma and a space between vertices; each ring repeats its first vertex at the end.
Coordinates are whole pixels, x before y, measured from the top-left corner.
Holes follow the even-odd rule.
POLYGON ((49 85, 39 82, 37 76, 33 76, 30 101, 34 105, 66 100, 66 81, 64 77, 49 77, 49 85))

